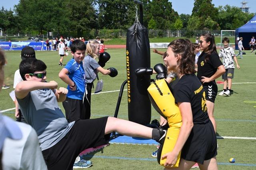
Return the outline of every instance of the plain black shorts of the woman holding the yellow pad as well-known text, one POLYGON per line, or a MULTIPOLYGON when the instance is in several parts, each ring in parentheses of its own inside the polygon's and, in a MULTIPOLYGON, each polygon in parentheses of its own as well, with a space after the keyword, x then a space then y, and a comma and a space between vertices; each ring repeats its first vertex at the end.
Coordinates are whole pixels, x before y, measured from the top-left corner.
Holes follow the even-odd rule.
POLYGON ((204 164, 204 160, 209 160, 217 155, 216 134, 209 120, 206 124, 194 124, 186 143, 181 152, 184 160, 204 164))

